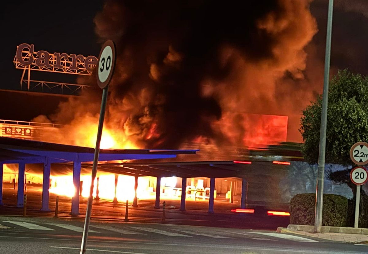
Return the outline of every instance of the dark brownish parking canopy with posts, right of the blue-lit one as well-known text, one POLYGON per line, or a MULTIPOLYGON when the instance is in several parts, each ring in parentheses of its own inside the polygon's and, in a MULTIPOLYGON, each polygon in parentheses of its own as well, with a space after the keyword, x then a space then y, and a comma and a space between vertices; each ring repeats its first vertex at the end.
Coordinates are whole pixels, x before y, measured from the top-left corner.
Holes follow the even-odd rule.
MULTIPOLYGON (((135 176, 135 189, 138 186, 138 177, 154 176, 157 178, 156 204, 155 208, 160 207, 160 186, 161 177, 181 177, 181 193, 186 193, 187 178, 207 177, 210 178, 209 189, 209 212, 213 213, 213 196, 216 178, 227 178, 229 181, 236 181, 234 178, 241 178, 241 208, 245 208, 245 198, 247 196, 247 182, 255 179, 266 178, 269 175, 282 174, 286 170, 289 162, 276 161, 257 161, 257 160, 236 160, 236 161, 174 161, 150 162, 148 160, 136 160, 124 163, 101 163, 99 170, 114 174, 124 174, 135 176)), ((84 168, 91 168, 92 164, 82 164, 84 168)), ((231 190, 232 191, 232 190, 231 190)), ((180 210, 185 210, 185 197, 181 195, 180 210)), ((135 199, 135 205, 136 199, 135 199)))

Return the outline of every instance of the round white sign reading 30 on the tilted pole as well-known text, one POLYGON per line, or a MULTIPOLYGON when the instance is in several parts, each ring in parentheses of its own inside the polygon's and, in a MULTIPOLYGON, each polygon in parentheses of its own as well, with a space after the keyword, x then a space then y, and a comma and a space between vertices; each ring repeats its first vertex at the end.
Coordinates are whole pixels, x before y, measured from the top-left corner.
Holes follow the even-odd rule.
POLYGON ((116 62, 116 49, 113 41, 106 41, 101 48, 97 64, 97 84, 105 88, 112 79, 116 62))

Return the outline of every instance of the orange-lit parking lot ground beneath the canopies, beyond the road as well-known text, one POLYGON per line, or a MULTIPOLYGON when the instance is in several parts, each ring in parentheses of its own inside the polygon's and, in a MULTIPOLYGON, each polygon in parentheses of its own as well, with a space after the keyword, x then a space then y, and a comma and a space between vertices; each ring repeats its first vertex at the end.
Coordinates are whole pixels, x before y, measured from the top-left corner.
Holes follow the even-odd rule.
MULTIPOLYGON (((50 194, 50 212, 42 212, 41 208, 41 188, 40 186, 29 185, 27 187, 27 215, 28 216, 46 216, 53 217, 56 195, 50 194)), ((278 226, 287 227, 289 225, 289 217, 285 216, 267 216, 266 210, 262 215, 257 214, 239 214, 230 212, 232 208, 238 208, 238 203, 229 204, 224 199, 215 200, 215 213, 209 214, 208 201, 192 201, 186 202, 187 210, 179 211, 180 200, 161 199, 161 209, 154 209, 155 200, 138 199, 138 207, 132 207, 132 203, 128 206, 128 217, 134 222, 160 222, 162 220, 162 202, 166 201, 166 221, 172 224, 184 224, 195 226, 217 226, 217 227, 235 227, 243 229, 272 229, 276 230, 278 226)), ((237 199, 234 202, 238 201, 237 199)), ((22 215, 23 208, 15 208, 17 204, 17 189, 13 190, 10 184, 4 184, 3 194, 4 206, 0 208, 0 215, 22 215)), ((87 205, 87 199, 80 199, 79 217, 84 218, 87 205)), ((255 208, 250 206, 249 208, 255 208)), ((60 196, 59 199, 59 216, 70 218, 71 198, 60 196)), ((258 211, 258 210, 257 210, 258 211)), ((125 203, 119 202, 114 205, 112 201, 100 199, 94 200, 92 206, 92 218, 100 220, 121 221, 125 217, 125 203)))

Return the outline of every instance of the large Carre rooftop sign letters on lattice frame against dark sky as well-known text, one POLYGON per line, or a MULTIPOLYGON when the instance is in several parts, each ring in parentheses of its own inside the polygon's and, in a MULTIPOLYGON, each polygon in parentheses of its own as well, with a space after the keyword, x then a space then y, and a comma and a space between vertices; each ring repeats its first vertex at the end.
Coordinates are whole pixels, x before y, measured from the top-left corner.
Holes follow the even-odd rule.
POLYGON ((35 51, 35 46, 23 43, 18 46, 14 58, 17 69, 39 70, 78 75, 91 75, 98 59, 67 53, 35 51))

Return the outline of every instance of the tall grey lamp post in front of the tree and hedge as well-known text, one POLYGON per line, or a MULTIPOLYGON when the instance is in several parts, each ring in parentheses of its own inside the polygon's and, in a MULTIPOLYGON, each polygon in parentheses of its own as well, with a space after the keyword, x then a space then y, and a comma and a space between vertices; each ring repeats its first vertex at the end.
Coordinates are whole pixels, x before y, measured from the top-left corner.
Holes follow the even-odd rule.
POLYGON ((327 107, 328 107, 328 84, 329 84, 329 78, 330 78, 332 12, 333 12, 333 0, 329 0, 328 19, 327 19, 327 36, 326 36, 326 52, 325 52, 325 71, 324 71, 324 77, 323 77, 321 131, 319 135, 316 210, 315 210, 315 218, 314 218, 314 232, 315 233, 321 233, 321 229, 322 229, 323 180, 324 180, 324 175, 325 175, 326 129, 327 129, 327 107))

